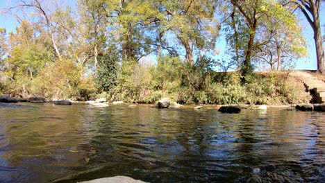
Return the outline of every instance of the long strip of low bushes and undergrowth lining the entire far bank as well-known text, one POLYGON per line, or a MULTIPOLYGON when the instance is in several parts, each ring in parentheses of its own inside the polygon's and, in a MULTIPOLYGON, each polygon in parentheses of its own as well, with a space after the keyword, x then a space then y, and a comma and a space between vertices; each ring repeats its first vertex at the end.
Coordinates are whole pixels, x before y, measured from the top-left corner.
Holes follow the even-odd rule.
POLYGON ((34 80, 3 83, 1 89, 12 96, 81 101, 106 97, 126 103, 156 103, 163 97, 181 104, 287 105, 310 100, 303 84, 288 72, 252 73, 242 82, 240 73, 216 72, 204 57, 194 66, 178 58, 163 58, 158 64, 107 60, 92 76, 80 77, 78 68, 56 67, 60 71, 52 71, 53 76, 41 73, 34 80))

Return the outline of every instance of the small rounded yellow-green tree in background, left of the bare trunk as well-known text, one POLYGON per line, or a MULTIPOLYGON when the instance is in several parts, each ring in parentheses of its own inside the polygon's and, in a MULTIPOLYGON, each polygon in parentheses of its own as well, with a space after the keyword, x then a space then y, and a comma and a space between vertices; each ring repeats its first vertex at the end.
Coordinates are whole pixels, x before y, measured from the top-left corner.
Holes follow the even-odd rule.
POLYGON ((281 70, 283 62, 306 57, 308 51, 299 19, 291 13, 291 7, 278 4, 271 9, 274 13, 265 15, 256 35, 255 57, 270 64, 272 70, 281 70))

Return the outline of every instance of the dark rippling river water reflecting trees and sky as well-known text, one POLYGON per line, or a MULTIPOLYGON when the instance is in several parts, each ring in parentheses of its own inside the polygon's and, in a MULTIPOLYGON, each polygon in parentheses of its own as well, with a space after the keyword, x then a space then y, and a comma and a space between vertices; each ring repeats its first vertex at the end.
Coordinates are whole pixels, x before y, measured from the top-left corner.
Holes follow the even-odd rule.
POLYGON ((0 104, 0 182, 325 182, 325 113, 0 104))

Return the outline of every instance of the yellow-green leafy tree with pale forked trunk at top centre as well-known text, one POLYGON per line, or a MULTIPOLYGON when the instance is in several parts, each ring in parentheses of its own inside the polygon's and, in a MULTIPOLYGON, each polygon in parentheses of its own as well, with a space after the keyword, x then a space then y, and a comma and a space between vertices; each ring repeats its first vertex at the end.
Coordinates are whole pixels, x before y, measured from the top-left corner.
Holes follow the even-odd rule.
POLYGON ((219 26, 213 17, 216 1, 160 1, 163 13, 160 26, 173 33, 185 49, 185 57, 194 66, 194 51, 214 49, 219 26))

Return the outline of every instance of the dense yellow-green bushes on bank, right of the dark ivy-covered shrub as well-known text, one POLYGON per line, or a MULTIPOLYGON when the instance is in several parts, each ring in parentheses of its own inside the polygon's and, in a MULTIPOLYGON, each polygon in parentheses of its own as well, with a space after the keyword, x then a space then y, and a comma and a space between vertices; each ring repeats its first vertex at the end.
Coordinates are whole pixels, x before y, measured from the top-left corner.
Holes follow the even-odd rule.
POLYGON ((194 66, 165 57, 157 65, 124 61, 117 69, 110 101, 155 103, 162 97, 183 104, 288 104, 296 100, 285 73, 245 77, 213 71, 214 60, 201 57, 194 66))

